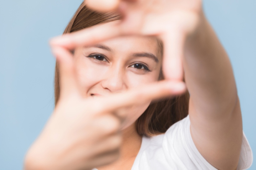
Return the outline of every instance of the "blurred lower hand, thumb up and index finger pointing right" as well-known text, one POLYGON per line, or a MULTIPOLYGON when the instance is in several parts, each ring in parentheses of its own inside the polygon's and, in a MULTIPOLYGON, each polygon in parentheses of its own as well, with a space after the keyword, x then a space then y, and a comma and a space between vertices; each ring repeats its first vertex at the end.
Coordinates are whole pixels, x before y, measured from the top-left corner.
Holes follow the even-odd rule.
POLYGON ((182 83, 162 81, 108 97, 84 98, 71 54, 52 48, 60 68, 60 100, 29 149, 25 170, 90 170, 109 164, 118 158, 122 141, 125 113, 120 109, 185 91, 182 83))

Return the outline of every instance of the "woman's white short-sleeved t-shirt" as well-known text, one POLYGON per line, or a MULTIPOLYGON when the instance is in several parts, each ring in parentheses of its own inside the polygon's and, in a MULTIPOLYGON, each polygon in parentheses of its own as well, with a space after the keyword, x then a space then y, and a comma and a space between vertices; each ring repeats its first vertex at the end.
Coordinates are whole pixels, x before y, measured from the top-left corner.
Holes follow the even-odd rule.
MULTIPOLYGON (((237 170, 252 165, 252 150, 243 134, 237 170)), ((189 116, 173 124, 164 134, 142 137, 140 151, 131 170, 217 170, 199 153, 190 135, 189 116)), ((97 170, 94 168, 93 170, 97 170)))

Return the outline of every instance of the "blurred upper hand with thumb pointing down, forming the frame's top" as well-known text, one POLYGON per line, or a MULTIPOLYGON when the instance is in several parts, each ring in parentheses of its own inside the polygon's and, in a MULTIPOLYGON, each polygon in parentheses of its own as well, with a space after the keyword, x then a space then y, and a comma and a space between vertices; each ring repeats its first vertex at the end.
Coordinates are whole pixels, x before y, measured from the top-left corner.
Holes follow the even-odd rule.
POLYGON ((54 38, 53 46, 74 49, 120 35, 154 35, 164 43, 165 79, 182 81, 184 44, 199 29, 203 18, 201 0, 85 0, 85 3, 99 11, 116 10, 123 19, 54 38))

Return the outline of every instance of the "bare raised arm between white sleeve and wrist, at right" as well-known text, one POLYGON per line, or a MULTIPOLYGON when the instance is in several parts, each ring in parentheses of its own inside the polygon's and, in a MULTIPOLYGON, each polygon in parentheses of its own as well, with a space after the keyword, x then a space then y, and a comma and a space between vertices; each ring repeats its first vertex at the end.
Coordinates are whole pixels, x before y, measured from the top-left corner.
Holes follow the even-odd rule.
POLYGON ((190 92, 193 141, 218 169, 236 169, 242 144, 242 117, 228 55, 202 14, 183 58, 190 92))

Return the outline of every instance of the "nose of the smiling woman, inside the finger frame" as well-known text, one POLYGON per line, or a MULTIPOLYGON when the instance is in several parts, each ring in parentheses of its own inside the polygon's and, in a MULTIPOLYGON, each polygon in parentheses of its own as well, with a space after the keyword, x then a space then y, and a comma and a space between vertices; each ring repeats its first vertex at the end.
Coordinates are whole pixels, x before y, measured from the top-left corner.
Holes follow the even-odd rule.
POLYGON ((111 92, 122 92, 127 88, 124 74, 122 68, 109 69, 102 81, 102 87, 111 92))

